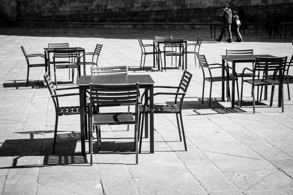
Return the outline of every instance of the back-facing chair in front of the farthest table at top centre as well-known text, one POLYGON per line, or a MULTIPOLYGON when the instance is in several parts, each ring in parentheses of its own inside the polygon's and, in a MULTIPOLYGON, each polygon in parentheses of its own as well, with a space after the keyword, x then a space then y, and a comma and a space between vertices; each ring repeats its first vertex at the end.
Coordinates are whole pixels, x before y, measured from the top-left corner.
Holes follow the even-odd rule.
MULTIPOLYGON (((166 56, 175 56, 176 59, 182 57, 182 64, 184 64, 184 49, 183 49, 183 39, 165 39, 164 43, 164 65, 166 71, 166 56), (169 50, 171 49, 171 50, 169 50), (174 51, 175 49, 175 51, 174 51)), ((179 59, 179 66, 181 60, 179 59)), ((182 66, 183 68, 184 66, 182 66)))

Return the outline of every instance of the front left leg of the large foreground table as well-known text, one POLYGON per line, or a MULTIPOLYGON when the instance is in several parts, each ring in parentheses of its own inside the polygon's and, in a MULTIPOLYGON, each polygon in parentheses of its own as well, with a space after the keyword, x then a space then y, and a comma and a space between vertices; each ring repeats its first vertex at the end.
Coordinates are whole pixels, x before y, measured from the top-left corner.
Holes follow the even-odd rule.
POLYGON ((84 90, 79 88, 80 97, 80 119, 81 119, 81 145, 82 145, 82 155, 85 156, 85 136, 84 136, 84 90))

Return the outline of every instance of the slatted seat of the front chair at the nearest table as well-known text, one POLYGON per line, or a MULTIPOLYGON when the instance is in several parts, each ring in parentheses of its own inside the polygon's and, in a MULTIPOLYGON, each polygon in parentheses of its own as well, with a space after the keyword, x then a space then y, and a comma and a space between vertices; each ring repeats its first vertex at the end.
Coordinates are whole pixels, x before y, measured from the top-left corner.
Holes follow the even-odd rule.
POLYGON ((98 113, 93 115, 93 125, 135 124, 132 113, 98 113))

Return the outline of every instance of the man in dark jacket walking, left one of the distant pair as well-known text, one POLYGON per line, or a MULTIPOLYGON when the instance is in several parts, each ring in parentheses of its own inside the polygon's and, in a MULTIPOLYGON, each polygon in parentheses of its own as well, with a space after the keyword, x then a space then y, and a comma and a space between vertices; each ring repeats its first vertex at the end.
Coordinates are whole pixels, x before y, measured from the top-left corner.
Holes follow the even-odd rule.
POLYGON ((225 30, 227 28, 228 34, 229 34, 229 39, 226 39, 226 41, 227 42, 232 42, 232 33, 231 33, 232 11, 227 6, 224 6, 223 7, 223 10, 224 10, 223 16, 222 15, 219 15, 220 17, 223 18, 222 31, 221 31, 221 34, 220 34, 219 38, 218 39, 215 39, 215 40, 221 42, 221 40, 223 38, 223 35, 225 33, 225 30))

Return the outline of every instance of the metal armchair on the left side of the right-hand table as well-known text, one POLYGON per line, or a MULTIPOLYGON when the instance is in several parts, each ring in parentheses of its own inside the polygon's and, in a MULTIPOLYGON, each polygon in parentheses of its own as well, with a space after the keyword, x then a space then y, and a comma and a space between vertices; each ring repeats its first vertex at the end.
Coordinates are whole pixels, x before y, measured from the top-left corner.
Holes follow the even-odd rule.
MULTIPOLYGON (((211 102, 211 89, 212 89, 212 83, 213 82, 223 82, 227 81, 227 97, 228 100, 230 98, 230 86, 229 86, 229 81, 232 80, 232 77, 229 74, 229 69, 232 69, 229 66, 222 66, 222 64, 219 63, 213 63, 209 64, 207 62, 207 59, 205 55, 199 55, 196 53, 199 65, 201 66, 202 72, 203 72, 203 95, 202 95, 202 103, 204 103, 204 92, 205 92, 205 81, 210 82, 210 88, 209 88, 209 107, 210 107, 210 102, 211 102), (213 70, 216 69, 224 69, 226 75, 225 76, 220 76, 220 77, 213 77, 212 72, 213 70)), ((238 78, 236 76, 235 80, 237 81, 238 78)), ((238 100, 239 100, 239 88, 238 88, 238 82, 236 82, 237 85, 237 95, 238 95, 238 100)))

